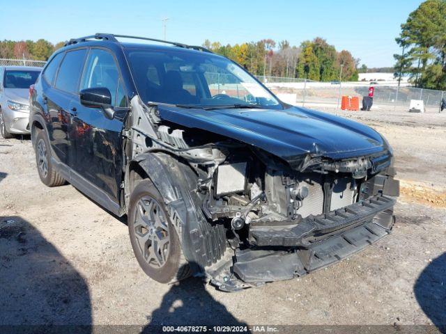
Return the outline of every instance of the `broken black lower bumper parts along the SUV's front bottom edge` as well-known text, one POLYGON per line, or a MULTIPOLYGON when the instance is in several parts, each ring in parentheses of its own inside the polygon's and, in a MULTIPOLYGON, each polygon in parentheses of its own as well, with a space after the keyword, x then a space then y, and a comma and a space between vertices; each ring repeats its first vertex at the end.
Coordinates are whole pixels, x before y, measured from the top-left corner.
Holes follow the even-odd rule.
POLYGON ((251 248, 237 249, 207 270, 211 283, 237 291, 289 280, 327 267, 374 244, 392 230, 395 198, 371 196, 298 224, 252 225, 251 248))

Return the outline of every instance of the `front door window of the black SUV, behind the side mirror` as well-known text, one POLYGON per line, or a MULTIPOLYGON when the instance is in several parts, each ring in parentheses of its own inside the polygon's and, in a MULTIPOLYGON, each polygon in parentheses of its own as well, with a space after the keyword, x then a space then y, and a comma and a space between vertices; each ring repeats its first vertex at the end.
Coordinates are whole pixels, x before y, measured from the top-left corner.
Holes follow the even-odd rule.
POLYGON ((121 106, 124 103, 125 94, 123 94, 122 84, 118 87, 118 78, 118 67, 116 67, 112 54, 103 49, 91 49, 80 89, 108 88, 112 95, 112 104, 121 106))

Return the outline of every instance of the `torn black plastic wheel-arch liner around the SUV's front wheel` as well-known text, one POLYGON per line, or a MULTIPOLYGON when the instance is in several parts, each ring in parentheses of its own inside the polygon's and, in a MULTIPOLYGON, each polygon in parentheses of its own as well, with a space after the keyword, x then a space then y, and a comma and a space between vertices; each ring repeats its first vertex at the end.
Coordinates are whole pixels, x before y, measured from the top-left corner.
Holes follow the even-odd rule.
POLYGON ((194 191, 197 175, 180 157, 166 152, 139 154, 125 173, 125 198, 128 203, 131 185, 149 178, 164 200, 183 253, 195 272, 216 262, 226 248, 226 230, 223 225, 211 224, 201 212, 201 200, 194 191), (133 183, 132 183, 133 182, 133 183))

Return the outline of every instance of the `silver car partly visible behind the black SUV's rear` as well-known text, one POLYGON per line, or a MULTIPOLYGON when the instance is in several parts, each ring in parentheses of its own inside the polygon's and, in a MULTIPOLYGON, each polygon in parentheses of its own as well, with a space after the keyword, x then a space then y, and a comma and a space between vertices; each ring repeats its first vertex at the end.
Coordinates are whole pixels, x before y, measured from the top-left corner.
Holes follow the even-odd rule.
POLYGON ((3 138, 29 134, 29 86, 38 78, 41 67, 0 67, 0 132, 3 138))

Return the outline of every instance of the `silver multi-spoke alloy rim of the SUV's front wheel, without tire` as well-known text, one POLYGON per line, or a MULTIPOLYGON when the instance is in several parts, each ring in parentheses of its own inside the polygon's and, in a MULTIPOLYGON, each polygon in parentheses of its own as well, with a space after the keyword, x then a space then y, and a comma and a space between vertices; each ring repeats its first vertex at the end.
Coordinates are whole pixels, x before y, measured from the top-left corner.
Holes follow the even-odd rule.
POLYGON ((151 196, 140 198, 136 210, 133 228, 139 250, 151 267, 160 269, 169 257, 167 218, 160 204, 151 196))

